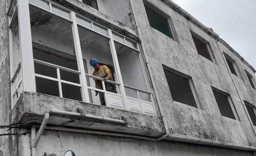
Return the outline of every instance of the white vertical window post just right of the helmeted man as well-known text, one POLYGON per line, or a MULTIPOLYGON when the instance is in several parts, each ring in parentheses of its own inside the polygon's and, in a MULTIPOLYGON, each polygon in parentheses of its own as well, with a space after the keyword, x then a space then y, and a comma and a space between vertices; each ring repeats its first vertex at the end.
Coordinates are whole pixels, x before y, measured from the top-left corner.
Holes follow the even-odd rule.
POLYGON ((108 29, 108 34, 109 34, 109 37, 110 37, 110 40, 109 40, 110 49, 111 49, 111 53, 112 53, 112 56, 113 56, 114 66, 116 68, 115 70, 116 70, 116 73, 117 73, 116 76, 117 76, 117 80, 120 83, 120 92, 121 92, 121 95, 123 97, 124 109, 126 109, 126 104, 128 104, 128 102, 127 102, 127 98, 126 98, 126 94, 125 94, 125 90, 124 90, 124 86, 123 86, 123 79, 122 79, 122 76, 121 76, 121 71, 120 71, 120 67, 119 67, 119 63, 118 63, 118 59, 117 59, 114 39, 113 39, 112 31, 110 29, 108 29))

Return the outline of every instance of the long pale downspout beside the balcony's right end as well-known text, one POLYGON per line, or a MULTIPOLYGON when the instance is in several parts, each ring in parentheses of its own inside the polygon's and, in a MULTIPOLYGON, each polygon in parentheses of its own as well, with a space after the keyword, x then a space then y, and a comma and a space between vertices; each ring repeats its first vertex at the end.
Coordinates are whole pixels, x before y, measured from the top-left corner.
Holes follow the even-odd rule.
MULTIPOLYGON (((146 50, 145 50, 145 46, 144 46, 144 42, 142 41, 142 35, 141 35, 141 31, 140 31, 140 27, 139 27, 139 24, 138 24, 138 20, 137 20, 137 17, 136 17, 136 14, 135 14, 135 10, 134 10, 134 5, 133 5, 133 2, 132 0, 129 0, 130 1, 130 5, 131 5, 131 9, 132 9, 132 13, 133 13, 133 16, 134 16, 134 20, 135 20, 135 25, 136 25, 136 28, 137 28, 137 32, 138 32, 138 39, 141 43, 141 47, 142 47, 142 51, 144 53, 144 58, 145 58, 145 61, 146 61, 146 64, 147 64, 147 68, 148 68, 148 72, 149 72, 149 76, 150 76, 150 79, 152 81, 152 86, 153 86, 153 89, 155 91, 155 94, 156 94, 156 98, 157 98, 157 103, 158 103, 158 106, 159 106, 159 110, 160 110, 160 114, 161 114, 161 118, 163 120, 163 123, 164 123, 164 129, 165 129, 165 133, 166 133, 166 136, 168 137, 169 136, 169 129, 168 129, 168 126, 167 126, 167 123, 166 123, 166 119, 165 119, 165 115, 164 115, 164 112, 162 110, 162 106, 161 106, 161 103, 160 103, 160 99, 159 99, 159 96, 158 96, 158 93, 157 93, 157 88, 156 88, 156 85, 155 85, 155 80, 154 80, 154 77, 152 75, 152 71, 151 71, 151 68, 150 68, 150 65, 149 65, 149 62, 148 62, 148 58, 147 58, 147 53, 146 53, 146 50)), ((164 135, 165 136, 165 135, 164 135)))

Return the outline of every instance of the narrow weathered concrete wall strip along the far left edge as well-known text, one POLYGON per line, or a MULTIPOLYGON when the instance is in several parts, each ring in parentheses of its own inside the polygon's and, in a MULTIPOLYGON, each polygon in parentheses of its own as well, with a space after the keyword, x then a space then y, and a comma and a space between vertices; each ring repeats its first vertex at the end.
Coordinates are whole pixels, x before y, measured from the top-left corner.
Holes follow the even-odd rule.
MULTIPOLYGON (((0 3, 0 125, 10 124, 10 61, 9 61, 9 35, 7 10, 9 0, 1 0, 0 3)), ((7 133, 6 129, 0 129, 0 134, 7 133)), ((9 148, 13 145, 9 142, 13 137, 0 136, 0 156, 10 156, 9 148)), ((15 138, 14 138, 15 139, 15 138)), ((16 151, 13 146, 13 151, 16 151)), ((16 154, 15 154, 16 155, 16 154)))

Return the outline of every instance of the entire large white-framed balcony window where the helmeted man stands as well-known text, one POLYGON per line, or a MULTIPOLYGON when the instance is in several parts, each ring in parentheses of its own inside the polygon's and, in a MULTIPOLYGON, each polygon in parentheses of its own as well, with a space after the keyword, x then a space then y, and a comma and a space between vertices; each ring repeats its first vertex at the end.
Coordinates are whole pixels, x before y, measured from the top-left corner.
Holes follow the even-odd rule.
POLYGON ((13 53, 17 54, 13 62, 18 63, 12 80, 14 100, 24 90, 155 116, 136 37, 127 38, 63 6, 42 0, 29 0, 29 10, 22 11, 29 11, 30 27, 22 28, 31 31, 31 36, 23 33, 21 44, 31 45, 31 49, 28 46, 26 51, 19 52, 21 28, 14 25, 18 36, 10 36, 15 42, 13 53), (19 54, 32 55, 22 68, 25 75, 21 75, 23 60, 19 54), (97 58, 97 65, 104 70, 98 76, 90 64, 91 58, 97 58), (104 80, 102 75, 108 70, 111 77, 104 80), (34 77, 23 83, 23 89, 22 76, 34 77))

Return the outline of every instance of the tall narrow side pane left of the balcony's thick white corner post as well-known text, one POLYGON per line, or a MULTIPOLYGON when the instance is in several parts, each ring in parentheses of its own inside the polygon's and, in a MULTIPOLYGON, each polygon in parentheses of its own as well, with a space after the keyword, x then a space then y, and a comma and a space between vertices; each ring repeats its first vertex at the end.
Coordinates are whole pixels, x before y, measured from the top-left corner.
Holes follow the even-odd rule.
POLYGON ((21 62, 20 53, 20 32, 19 32, 19 21, 18 14, 14 18, 13 26, 11 27, 12 38, 13 38, 13 74, 17 70, 21 62))

